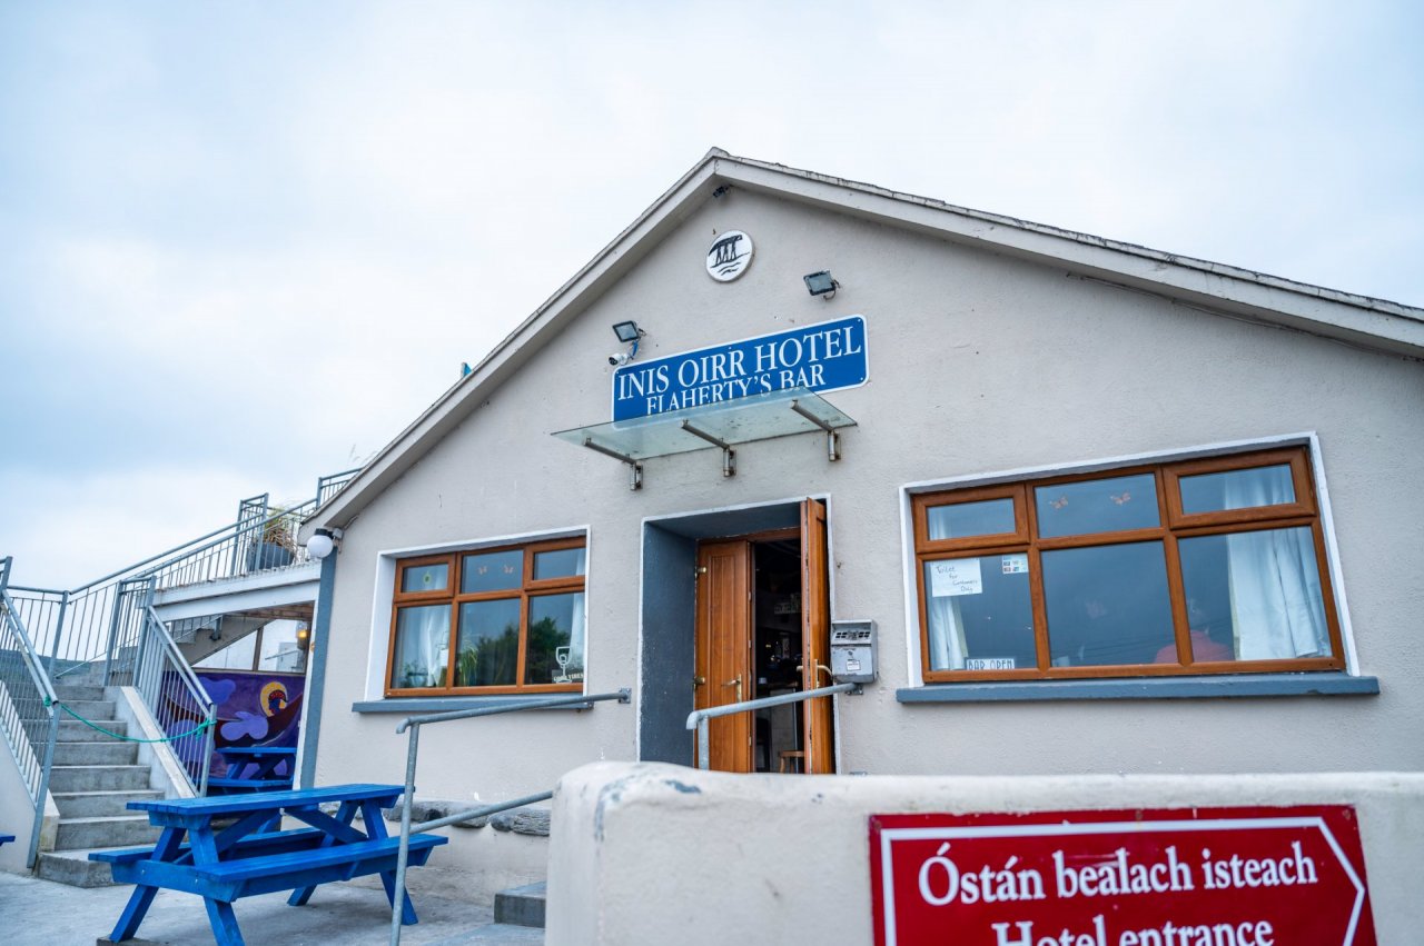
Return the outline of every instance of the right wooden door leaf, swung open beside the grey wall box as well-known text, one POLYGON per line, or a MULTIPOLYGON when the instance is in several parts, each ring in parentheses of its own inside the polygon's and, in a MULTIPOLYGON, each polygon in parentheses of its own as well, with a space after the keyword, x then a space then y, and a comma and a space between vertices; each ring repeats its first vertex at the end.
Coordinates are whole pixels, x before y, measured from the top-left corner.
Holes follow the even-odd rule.
MULTIPOLYGON (((802 690, 830 686, 830 569, 826 504, 802 504, 802 690)), ((806 772, 836 771, 834 708, 830 697, 802 703, 806 772)))

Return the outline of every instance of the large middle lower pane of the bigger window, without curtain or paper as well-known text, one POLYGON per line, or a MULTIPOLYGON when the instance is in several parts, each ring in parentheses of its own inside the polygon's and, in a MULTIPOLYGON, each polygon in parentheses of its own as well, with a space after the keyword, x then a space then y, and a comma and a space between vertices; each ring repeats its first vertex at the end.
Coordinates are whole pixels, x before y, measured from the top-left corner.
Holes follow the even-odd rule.
POLYGON ((1055 667, 1176 663, 1161 542, 1044 552, 1055 667))

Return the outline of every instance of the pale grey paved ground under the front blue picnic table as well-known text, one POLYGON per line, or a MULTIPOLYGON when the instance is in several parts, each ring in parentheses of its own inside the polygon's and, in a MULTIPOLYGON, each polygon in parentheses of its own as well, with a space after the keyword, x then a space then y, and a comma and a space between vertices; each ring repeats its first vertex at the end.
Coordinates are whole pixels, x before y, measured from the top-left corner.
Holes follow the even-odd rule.
MULTIPOLYGON (((107 937, 128 900, 131 886, 73 888, 16 873, 0 873, 0 946, 88 946, 107 937)), ((402 930, 410 946, 460 943, 543 945, 544 930, 501 926, 488 906, 460 899, 449 882, 410 878, 420 922, 402 930)), ((326 883, 306 906, 288 906, 286 893, 238 900, 234 912, 248 946, 376 946, 390 942, 390 906, 376 878, 326 883)), ((132 946, 202 946, 212 943, 202 900, 159 891, 132 946)))

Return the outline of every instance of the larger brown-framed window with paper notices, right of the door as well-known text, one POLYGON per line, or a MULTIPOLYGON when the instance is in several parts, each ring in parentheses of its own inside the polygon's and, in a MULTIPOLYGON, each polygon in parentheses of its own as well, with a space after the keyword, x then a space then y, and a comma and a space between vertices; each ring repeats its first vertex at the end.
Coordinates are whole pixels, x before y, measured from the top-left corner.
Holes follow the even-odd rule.
POLYGON ((1340 670, 1304 448, 917 495, 927 683, 1340 670))

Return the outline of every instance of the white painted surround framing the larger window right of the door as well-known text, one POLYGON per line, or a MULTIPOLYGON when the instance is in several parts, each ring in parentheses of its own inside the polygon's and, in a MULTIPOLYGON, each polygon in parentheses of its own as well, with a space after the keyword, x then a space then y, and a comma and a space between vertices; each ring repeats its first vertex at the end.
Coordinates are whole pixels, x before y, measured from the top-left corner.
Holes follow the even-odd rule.
MULTIPOLYGON (((1280 434, 1262 437, 1259 440, 1239 440, 1220 444, 1205 444, 1199 447, 1183 447, 1176 450, 1161 450, 1142 454, 1128 454, 1101 459, 1087 459, 1074 462, 1045 464, 1041 467, 1024 467, 1020 469, 1004 469, 993 472, 967 474, 963 477, 948 477, 924 482, 910 482, 900 487, 900 548, 901 569, 904 580, 904 626, 906 626, 906 654, 909 663, 910 687, 924 687, 924 669, 920 663, 920 603, 916 583, 914 563, 914 516, 911 515, 911 496, 921 492, 937 492, 941 489, 961 489, 967 487, 991 487, 1001 482, 1021 482, 1041 477, 1055 477, 1081 472, 1111 471, 1121 467, 1148 462, 1176 462, 1185 459, 1202 459, 1206 457, 1226 457, 1230 454, 1245 454, 1257 450, 1276 447, 1306 447, 1310 457, 1310 472, 1314 478, 1316 499, 1320 506, 1320 525, 1326 539, 1326 558, 1330 572, 1330 588, 1336 596, 1336 607, 1340 619, 1340 639, 1344 643, 1346 673, 1358 676, 1358 663, 1354 649, 1354 632, 1350 626, 1350 607, 1344 596, 1344 579, 1340 570, 1340 551, 1336 543, 1334 516, 1330 511, 1330 492, 1326 488, 1324 462, 1320 454, 1320 438, 1314 431, 1303 434, 1280 434)), ((1161 679, 1143 679, 1156 683, 1161 679)), ((1141 683, 1142 680, 1139 680, 1141 683)), ((1042 686, 1044 681, 1028 681, 1027 686, 1042 686)), ((954 684, 937 684, 954 686, 954 684)), ((994 686, 994 684, 985 684, 994 686)))

